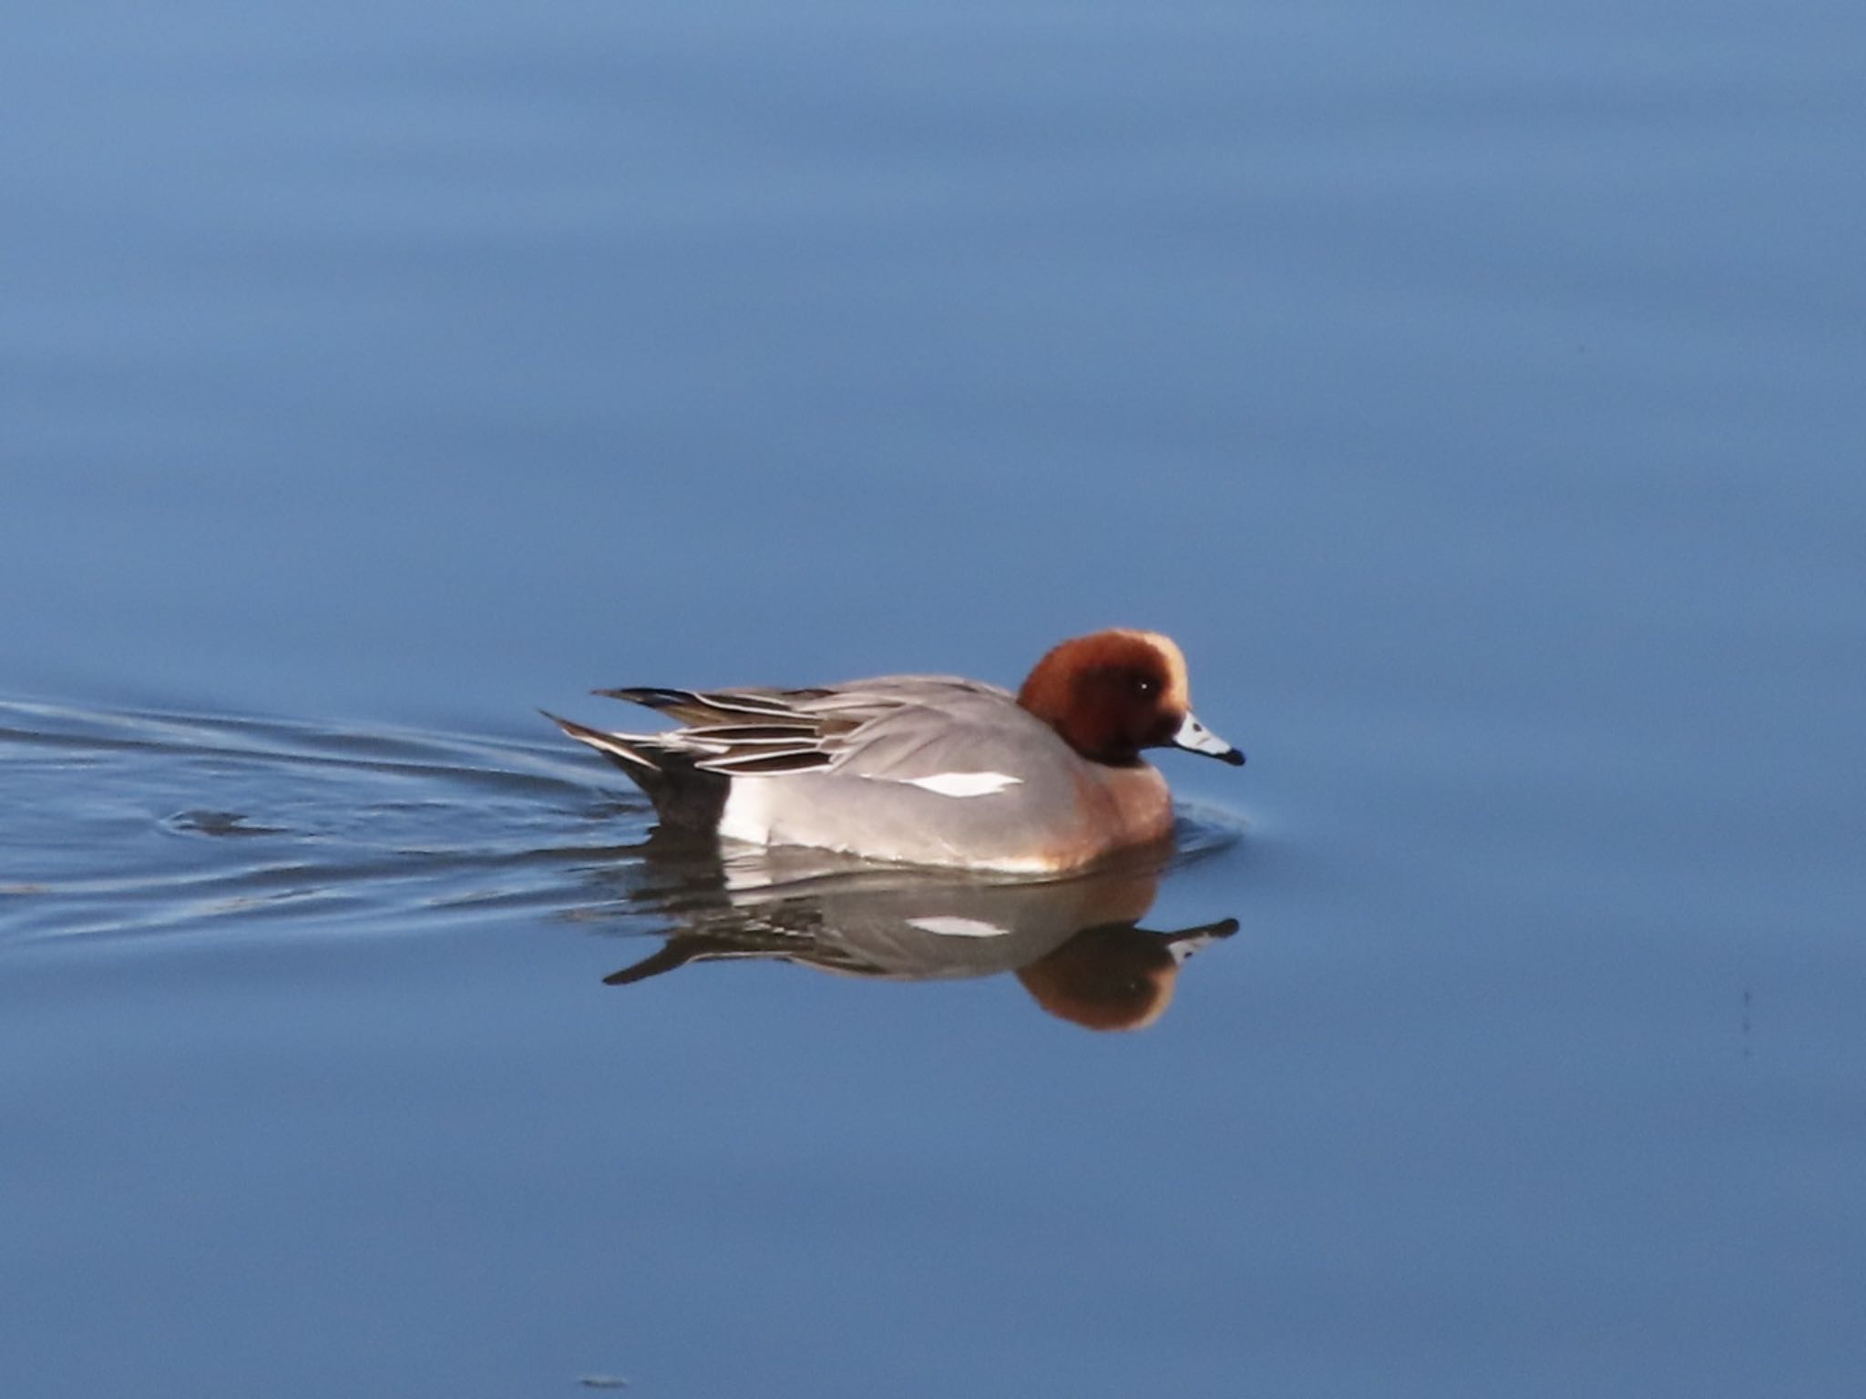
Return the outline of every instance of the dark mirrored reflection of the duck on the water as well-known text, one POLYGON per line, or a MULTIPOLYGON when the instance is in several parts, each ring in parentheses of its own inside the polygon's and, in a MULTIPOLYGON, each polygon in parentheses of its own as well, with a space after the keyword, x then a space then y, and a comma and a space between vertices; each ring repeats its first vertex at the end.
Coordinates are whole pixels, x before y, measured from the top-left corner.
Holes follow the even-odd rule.
POLYGON ((1185 961, 1237 931, 1233 918, 1140 927, 1170 852, 1043 880, 804 849, 720 852, 690 838, 651 839, 642 854, 646 879, 633 901, 659 907, 677 929, 605 977, 614 987, 728 959, 886 981, 1011 972, 1051 1015, 1090 1030, 1140 1030, 1172 1004, 1185 961))

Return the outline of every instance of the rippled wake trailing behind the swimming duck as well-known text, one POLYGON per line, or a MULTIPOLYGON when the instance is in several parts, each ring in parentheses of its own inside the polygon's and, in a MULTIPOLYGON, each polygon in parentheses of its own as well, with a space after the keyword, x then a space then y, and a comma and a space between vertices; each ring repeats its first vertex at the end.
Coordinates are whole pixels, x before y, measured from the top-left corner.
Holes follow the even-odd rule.
POLYGON ((0 716, 0 927, 28 936, 562 903, 564 871, 627 858, 649 819, 545 741, 45 703, 0 716))

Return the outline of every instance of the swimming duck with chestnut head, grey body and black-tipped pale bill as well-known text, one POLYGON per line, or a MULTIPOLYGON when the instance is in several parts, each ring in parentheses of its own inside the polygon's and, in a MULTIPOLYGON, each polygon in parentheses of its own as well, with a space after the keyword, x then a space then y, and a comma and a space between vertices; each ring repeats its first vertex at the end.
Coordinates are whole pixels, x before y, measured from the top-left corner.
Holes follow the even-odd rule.
POLYGON ((1172 836, 1144 748, 1245 755, 1200 724, 1168 636, 1052 647, 1013 696, 954 675, 808 690, 597 690, 681 720, 605 733, 550 714, 655 802, 662 824, 868 860, 1056 873, 1172 836))

